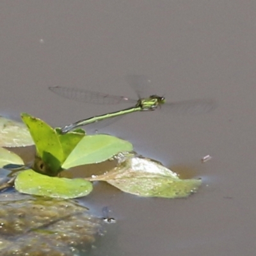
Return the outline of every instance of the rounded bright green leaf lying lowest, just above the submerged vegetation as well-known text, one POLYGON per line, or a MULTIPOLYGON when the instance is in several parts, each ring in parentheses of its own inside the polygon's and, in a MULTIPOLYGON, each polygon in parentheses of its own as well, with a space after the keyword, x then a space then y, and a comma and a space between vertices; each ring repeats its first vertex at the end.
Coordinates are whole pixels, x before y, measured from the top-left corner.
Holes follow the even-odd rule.
POLYGON ((49 177, 33 170, 20 172, 15 179, 15 189, 30 195, 77 198, 88 195, 92 188, 92 183, 84 179, 49 177))

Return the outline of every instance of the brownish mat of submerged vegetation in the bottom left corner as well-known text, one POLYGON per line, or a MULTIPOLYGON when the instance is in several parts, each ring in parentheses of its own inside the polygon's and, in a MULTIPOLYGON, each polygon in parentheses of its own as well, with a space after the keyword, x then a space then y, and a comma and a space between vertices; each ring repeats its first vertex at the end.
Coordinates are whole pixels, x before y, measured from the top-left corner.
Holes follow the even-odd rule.
POLYGON ((100 219, 72 201, 1 193, 0 205, 4 256, 79 255, 90 250, 102 232, 100 219))

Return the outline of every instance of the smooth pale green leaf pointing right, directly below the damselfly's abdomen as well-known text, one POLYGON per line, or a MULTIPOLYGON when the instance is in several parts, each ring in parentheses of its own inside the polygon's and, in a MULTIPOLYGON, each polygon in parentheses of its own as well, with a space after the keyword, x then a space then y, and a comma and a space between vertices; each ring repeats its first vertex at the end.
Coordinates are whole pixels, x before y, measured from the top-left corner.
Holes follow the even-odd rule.
POLYGON ((83 164, 100 163, 118 154, 131 151, 132 144, 106 134, 87 135, 77 144, 62 168, 68 169, 83 164))

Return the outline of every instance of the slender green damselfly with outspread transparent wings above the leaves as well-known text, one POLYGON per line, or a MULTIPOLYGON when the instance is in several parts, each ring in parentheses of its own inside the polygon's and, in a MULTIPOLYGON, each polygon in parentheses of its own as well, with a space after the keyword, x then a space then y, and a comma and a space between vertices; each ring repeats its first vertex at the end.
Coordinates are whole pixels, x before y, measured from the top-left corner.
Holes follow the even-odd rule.
POLYGON ((62 133, 66 133, 77 127, 92 124, 94 122, 99 122, 107 118, 114 118, 116 116, 122 116, 128 113, 133 113, 136 111, 154 111, 157 108, 167 107, 169 110, 174 110, 177 113, 207 113, 211 111, 215 102, 212 99, 196 99, 196 100, 184 100, 180 102, 166 102, 165 98, 158 95, 150 95, 149 97, 141 97, 142 89, 145 88, 145 81, 150 82, 147 77, 134 75, 129 76, 129 83, 136 90, 139 99, 129 99, 127 97, 109 95, 99 92, 92 92, 88 90, 78 89, 78 88, 67 88, 61 86, 49 87, 49 89, 65 97, 67 99, 74 99, 83 102, 91 102, 96 104, 118 104, 118 103, 131 103, 134 106, 130 108, 125 108, 120 111, 115 111, 107 113, 105 115, 92 116, 83 120, 74 122, 73 124, 65 125, 61 128, 62 133), (144 88, 143 88, 144 86, 144 88))

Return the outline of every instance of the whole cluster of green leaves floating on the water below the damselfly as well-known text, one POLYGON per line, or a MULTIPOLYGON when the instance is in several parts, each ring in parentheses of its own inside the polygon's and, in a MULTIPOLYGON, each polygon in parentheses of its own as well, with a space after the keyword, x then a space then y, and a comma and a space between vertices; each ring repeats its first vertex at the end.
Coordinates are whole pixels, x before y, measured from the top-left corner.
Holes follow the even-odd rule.
MULTIPOLYGON (((25 147, 35 143, 35 160, 28 170, 17 172, 15 189, 20 193, 76 198, 88 195, 92 182, 101 180, 112 186, 138 196, 164 198, 186 197, 195 192, 201 184, 198 179, 179 179, 178 175, 161 163, 132 152, 132 144, 107 134, 86 135, 85 131, 61 134, 43 120, 22 113, 24 124, 1 119, 0 146, 25 147), (97 164, 115 159, 115 168, 86 179, 58 177, 65 169, 75 166, 97 164)), ((0 167, 10 164, 24 166, 23 160, 15 153, 0 148, 0 167)), ((3 169, 2 169, 3 170, 3 169)))

